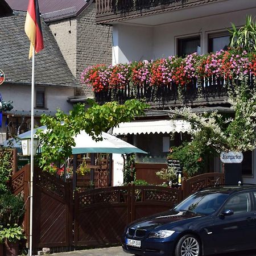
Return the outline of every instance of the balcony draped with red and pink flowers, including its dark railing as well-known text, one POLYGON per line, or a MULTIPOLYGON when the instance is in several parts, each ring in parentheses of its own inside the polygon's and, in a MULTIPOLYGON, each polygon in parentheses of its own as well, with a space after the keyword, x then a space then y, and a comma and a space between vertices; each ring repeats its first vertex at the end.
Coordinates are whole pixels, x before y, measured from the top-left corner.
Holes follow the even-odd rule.
POLYGON ((81 81, 103 104, 137 98, 154 109, 173 106, 225 105, 228 91, 241 83, 255 86, 256 55, 230 49, 207 55, 170 56, 82 72, 81 81))

